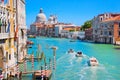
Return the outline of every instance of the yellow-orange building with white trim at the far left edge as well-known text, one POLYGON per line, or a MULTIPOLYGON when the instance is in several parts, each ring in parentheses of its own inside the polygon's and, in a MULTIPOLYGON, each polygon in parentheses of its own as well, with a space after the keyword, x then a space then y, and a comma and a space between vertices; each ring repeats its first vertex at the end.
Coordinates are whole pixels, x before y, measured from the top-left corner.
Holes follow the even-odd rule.
POLYGON ((0 69, 3 78, 16 73, 16 48, 14 32, 16 26, 16 0, 0 4, 0 69))

